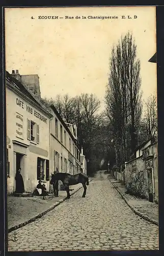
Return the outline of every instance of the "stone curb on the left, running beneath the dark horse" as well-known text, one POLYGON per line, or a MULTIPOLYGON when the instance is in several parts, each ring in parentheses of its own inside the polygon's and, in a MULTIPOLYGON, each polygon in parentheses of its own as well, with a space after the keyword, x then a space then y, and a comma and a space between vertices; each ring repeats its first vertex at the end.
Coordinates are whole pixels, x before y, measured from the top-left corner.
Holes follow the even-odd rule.
MULTIPOLYGON (((92 179, 92 180, 93 180, 93 179, 92 179)), ((91 182, 92 180, 90 180, 89 182, 91 182)), ((77 189, 75 189, 72 193, 70 193, 70 196, 74 195, 74 194, 75 194, 78 190, 80 190, 82 187, 83 187, 83 186, 78 187, 77 189)), ((29 224, 29 223, 31 223, 31 222, 33 222, 33 221, 35 221, 35 220, 41 218, 43 215, 47 214, 47 212, 49 212, 50 210, 53 210, 53 209, 54 209, 55 207, 57 207, 59 204, 63 203, 63 202, 66 200, 66 198, 67 198, 67 197, 64 197, 63 199, 61 199, 61 200, 59 200, 58 202, 54 203, 54 205, 52 205, 49 209, 42 211, 40 214, 36 215, 35 217, 31 218, 30 220, 24 221, 24 222, 22 222, 22 223, 20 223, 20 224, 17 224, 17 225, 15 225, 15 226, 13 226, 13 227, 10 227, 10 228, 8 229, 8 233, 10 233, 10 232, 13 231, 13 230, 16 230, 16 229, 18 229, 18 228, 20 228, 20 227, 25 226, 26 224, 29 224)))

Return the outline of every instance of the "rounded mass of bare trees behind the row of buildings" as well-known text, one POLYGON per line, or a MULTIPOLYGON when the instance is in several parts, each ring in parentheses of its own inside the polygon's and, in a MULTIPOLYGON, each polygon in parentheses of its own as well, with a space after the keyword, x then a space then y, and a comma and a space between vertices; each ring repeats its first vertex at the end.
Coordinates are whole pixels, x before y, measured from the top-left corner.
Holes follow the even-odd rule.
MULTIPOLYGON (((48 101, 48 100, 47 100, 48 101)), ((50 103, 56 106, 63 120, 77 125, 79 145, 83 146, 84 154, 88 162, 88 172, 91 174, 99 168, 102 158, 107 161, 108 148, 108 124, 104 122, 99 99, 93 94, 81 94, 76 97, 58 95, 50 103)))

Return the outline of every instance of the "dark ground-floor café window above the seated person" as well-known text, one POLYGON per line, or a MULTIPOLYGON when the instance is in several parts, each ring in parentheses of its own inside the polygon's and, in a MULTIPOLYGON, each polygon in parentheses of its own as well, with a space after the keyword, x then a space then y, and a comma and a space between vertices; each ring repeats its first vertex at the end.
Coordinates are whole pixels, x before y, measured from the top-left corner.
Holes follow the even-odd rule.
POLYGON ((46 174, 46 180, 49 180, 49 160, 38 157, 37 159, 37 180, 44 180, 46 174), (45 166, 44 166, 45 165, 45 166), (46 173, 45 169, 46 168, 46 173))

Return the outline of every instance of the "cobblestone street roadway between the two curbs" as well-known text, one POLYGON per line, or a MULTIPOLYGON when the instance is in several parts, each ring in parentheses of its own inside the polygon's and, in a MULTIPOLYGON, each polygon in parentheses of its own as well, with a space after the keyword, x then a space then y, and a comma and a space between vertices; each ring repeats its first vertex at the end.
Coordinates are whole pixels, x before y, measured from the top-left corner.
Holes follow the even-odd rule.
POLYGON ((9 233, 9 251, 157 250, 158 227, 134 214, 103 173, 33 223, 9 233))

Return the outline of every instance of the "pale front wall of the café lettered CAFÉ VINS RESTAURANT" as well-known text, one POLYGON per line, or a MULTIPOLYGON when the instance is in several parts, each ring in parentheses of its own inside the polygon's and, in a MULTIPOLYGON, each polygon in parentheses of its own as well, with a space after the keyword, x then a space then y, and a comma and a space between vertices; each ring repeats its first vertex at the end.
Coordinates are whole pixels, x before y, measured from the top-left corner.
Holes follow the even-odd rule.
MULTIPOLYGON (((37 181, 37 158, 49 160, 49 118, 23 96, 6 87, 6 122, 7 122, 7 150, 10 172, 8 173, 8 193, 15 190, 16 152, 24 154, 22 176, 25 191, 32 192, 37 181), (39 114, 43 117, 42 120, 39 114), (39 141, 28 140, 28 119, 39 125, 39 141)), ((35 125, 36 125, 35 124, 35 125)), ((36 132, 36 130, 35 130, 36 132)), ((45 173, 45 166, 44 166, 45 173)), ((45 177, 46 179, 46 177, 45 177)), ((49 187, 49 181, 45 186, 49 187)))

